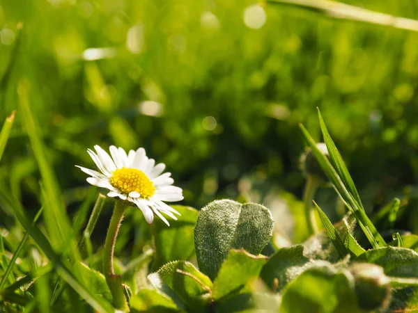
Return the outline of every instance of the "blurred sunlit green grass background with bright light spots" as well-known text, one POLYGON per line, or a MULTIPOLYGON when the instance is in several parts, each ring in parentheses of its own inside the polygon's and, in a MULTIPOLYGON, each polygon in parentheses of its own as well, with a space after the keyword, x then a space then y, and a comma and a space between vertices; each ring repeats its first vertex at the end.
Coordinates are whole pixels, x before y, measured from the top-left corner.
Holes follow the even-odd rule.
MULTIPOLYGON (((0 120, 15 109, 17 120, 0 177, 34 214, 40 175, 18 109, 25 81, 69 214, 89 188, 75 165, 92 167, 86 149, 96 144, 145 147, 184 188, 183 204, 241 195, 293 214, 304 188, 298 124, 320 141, 319 106, 366 210, 397 196, 395 228, 417 233, 418 33, 256 4, 2 1, 0 120)), ((418 19, 411 0, 364 7, 418 19)), ((341 217, 334 191, 317 198, 341 217)), ((0 218, 14 223, 7 209, 0 218)))

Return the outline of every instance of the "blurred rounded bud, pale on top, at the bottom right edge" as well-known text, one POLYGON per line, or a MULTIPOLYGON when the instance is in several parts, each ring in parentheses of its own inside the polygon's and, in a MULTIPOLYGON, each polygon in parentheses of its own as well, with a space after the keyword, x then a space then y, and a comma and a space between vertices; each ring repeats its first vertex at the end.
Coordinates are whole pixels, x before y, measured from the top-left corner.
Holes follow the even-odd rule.
POLYGON ((350 268, 355 279, 355 293, 359 307, 365 311, 385 310, 391 289, 383 268, 368 263, 356 263, 350 268))

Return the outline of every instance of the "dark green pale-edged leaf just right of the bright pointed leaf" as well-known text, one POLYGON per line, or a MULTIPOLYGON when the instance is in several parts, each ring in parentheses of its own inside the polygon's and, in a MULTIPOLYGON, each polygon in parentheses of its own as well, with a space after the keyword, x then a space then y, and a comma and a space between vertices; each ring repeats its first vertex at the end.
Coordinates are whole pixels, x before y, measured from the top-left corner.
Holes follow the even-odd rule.
MULTIPOLYGON (((281 291, 288 282, 310 266, 322 264, 303 255, 304 247, 297 245, 279 249, 261 270, 261 278, 273 291, 281 291)), ((327 262, 324 262, 327 263, 327 262)))

